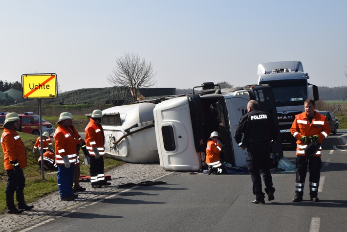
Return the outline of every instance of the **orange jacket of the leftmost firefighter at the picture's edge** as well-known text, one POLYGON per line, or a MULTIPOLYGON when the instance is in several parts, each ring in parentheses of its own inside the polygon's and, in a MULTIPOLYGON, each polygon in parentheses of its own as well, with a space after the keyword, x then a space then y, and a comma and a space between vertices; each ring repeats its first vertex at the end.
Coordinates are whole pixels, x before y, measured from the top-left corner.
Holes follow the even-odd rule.
POLYGON ((28 166, 25 146, 16 131, 4 128, 1 135, 1 146, 4 153, 3 163, 5 170, 14 169, 10 161, 15 160, 18 161, 21 168, 28 166))

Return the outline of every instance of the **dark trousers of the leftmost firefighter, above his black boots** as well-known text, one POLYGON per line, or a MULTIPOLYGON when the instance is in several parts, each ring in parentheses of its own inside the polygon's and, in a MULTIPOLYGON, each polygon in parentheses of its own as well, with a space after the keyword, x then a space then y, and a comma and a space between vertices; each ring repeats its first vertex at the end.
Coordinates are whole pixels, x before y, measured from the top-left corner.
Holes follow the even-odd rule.
POLYGON ((10 169, 6 170, 7 173, 7 185, 5 192, 13 194, 15 191, 22 191, 25 187, 25 178, 23 169, 10 169))

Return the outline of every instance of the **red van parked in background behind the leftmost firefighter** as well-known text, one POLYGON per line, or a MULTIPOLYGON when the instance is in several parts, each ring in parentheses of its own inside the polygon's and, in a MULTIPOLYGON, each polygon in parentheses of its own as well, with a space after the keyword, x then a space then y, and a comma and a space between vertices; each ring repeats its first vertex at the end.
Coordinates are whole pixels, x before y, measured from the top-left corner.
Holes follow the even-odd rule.
MULTIPOLYGON (((5 122, 5 116, 9 112, 2 112, 0 113, 0 128, 2 129, 2 125, 5 122)), ((30 133, 33 135, 40 135, 40 116, 34 115, 33 112, 25 112, 22 115, 19 115, 19 118, 21 118, 21 126, 18 129, 18 131, 24 132, 24 133, 30 133)), ((54 132, 54 128, 52 124, 49 122, 46 122, 42 118, 42 133, 48 132, 48 134, 52 134, 54 132)))

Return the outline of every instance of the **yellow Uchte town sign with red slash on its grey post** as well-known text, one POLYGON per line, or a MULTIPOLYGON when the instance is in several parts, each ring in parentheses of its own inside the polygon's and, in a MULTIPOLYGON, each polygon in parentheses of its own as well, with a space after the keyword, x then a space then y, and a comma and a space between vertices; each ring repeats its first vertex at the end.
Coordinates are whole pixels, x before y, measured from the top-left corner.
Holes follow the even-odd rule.
POLYGON ((57 74, 23 74, 22 93, 24 99, 37 99, 40 116, 40 151, 41 151, 41 173, 44 180, 43 142, 42 142, 42 113, 41 100, 57 98, 57 74))

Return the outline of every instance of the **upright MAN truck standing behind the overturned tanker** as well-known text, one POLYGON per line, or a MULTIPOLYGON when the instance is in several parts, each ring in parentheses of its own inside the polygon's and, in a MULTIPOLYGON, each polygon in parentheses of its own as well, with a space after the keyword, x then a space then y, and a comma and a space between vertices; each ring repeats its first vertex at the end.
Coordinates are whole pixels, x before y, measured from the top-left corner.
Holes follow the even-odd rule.
POLYGON ((304 112, 304 101, 319 99, 318 87, 308 83, 300 61, 269 62, 258 65, 258 84, 272 87, 282 143, 295 143, 290 133, 295 115, 304 112))

